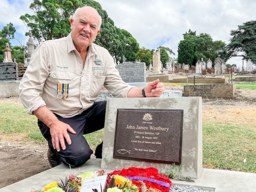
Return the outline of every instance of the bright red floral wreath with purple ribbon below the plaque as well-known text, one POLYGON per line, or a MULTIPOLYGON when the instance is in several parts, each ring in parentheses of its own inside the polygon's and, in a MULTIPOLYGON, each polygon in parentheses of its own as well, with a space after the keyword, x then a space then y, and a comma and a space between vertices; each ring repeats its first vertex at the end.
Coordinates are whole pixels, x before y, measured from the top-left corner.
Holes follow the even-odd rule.
MULTIPOLYGON (((122 169, 122 170, 115 170, 112 173, 110 173, 110 176, 112 175, 121 175, 126 177, 144 177, 145 179, 142 179, 143 182, 146 184, 147 188, 153 188, 158 189, 162 192, 169 192, 170 187, 172 186, 172 182, 170 179, 164 175, 159 174, 158 170, 156 168, 137 168, 137 167, 130 167, 128 169, 122 169), (147 180, 146 180, 147 179, 147 180), (148 180, 150 179, 150 180, 148 180), (157 181, 154 181, 157 180, 157 181), (164 183, 162 183, 164 182, 164 183), (166 185, 166 184, 169 184, 166 185), (165 185, 165 186, 164 186, 165 185)), ((136 186, 140 187, 141 184, 138 180, 131 179, 132 183, 136 186)), ((140 189, 141 192, 141 189, 140 189)))

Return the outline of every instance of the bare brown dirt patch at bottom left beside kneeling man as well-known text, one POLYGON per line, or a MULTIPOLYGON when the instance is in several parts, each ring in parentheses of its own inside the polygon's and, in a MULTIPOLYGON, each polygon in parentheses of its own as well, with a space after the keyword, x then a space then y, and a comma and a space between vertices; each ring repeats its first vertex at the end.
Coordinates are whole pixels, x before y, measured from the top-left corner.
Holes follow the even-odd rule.
POLYGON ((47 144, 22 140, 22 136, 0 136, 0 188, 50 168, 47 144))

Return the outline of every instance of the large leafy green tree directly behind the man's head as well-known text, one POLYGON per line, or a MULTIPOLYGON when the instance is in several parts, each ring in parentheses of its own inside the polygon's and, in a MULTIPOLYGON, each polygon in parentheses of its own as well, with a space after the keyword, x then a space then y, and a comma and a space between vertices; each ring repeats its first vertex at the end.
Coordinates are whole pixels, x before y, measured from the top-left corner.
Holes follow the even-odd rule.
POLYGON ((94 7, 102 17, 101 32, 94 43, 106 48, 112 56, 122 62, 123 56, 134 60, 138 46, 128 32, 114 26, 101 5, 94 0, 34 0, 30 4, 34 15, 25 14, 20 19, 31 29, 38 42, 67 36, 70 29, 70 16, 78 7, 94 7), (136 47, 137 46, 137 47, 136 47))

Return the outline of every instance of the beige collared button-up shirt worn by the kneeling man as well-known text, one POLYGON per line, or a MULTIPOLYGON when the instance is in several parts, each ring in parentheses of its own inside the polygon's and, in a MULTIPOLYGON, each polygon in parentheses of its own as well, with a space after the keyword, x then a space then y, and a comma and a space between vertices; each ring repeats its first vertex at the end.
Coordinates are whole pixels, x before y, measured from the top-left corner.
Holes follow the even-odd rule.
POLYGON ((122 81, 108 50, 89 47, 83 67, 71 34, 40 44, 20 82, 19 94, 28 113, 41 106, 69 118, 92 106, 102 86, 114 97, 127 97, 132 88, 122 81), (57 98, 57 84, 68 84, 68 98, 57 98))

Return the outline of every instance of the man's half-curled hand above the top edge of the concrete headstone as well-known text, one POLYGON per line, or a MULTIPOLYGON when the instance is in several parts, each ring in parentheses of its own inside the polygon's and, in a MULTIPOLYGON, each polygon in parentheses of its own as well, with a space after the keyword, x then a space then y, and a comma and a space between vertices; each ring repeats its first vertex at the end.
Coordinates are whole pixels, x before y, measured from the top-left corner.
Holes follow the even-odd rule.
POLYGON ((162 92, 165 90, 164 84, 159 82, 159 79, 149 82, 145 87, 146 97, 160 97, 162 92))

